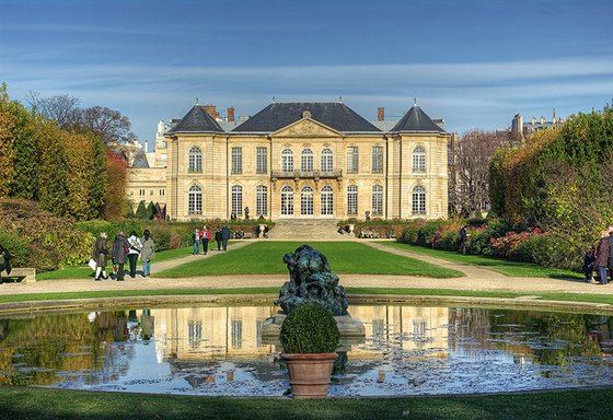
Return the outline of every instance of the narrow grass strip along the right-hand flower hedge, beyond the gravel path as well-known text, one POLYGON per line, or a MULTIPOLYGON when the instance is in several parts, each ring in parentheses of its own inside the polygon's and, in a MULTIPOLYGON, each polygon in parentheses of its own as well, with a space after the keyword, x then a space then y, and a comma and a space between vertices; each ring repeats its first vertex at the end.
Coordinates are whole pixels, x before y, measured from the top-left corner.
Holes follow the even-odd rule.
POLYGON ((551 279, 582 279, 583 276, 570 270, 559 268, 547 268, 529 262, 509 261, 481 255, 464 255, 452 250, 432 249, 424 246, 403 244, 400 242, 379 242, 382 245, 394 248, 410 250, 412 253, 423 254, 430 257, 444 259, 451 262, 477 266, 491 271, 500 272, 509 277, 536 277, 551 279))

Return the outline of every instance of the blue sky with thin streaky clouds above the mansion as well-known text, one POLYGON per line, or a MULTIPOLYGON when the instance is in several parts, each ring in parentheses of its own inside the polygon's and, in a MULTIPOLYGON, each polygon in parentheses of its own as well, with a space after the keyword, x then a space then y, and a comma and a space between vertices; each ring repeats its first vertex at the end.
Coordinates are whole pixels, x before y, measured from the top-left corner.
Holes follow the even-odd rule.
POLYGON ((417 97, 448 131, 551 118, 613 97, 611 0, 0 0, 0 81, 132 122, 194 105, 253 115, 335 102, 367 119, 417 97))

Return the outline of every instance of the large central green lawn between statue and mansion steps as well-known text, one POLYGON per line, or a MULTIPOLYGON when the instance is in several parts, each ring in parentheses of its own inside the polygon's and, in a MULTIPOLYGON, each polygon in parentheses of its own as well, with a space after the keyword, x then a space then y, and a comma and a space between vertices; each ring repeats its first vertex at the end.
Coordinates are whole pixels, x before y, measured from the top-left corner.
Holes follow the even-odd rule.
MULTIPOLYGON (((301 242, 254 242, 229 253, 213 254, 155 273, 155 277, 196 277, 216 275, 286 275, 284 255, 301 242)), ((435 278, 465 276, 429 262, 407 258, 356 242, 316 242, 310 245, 328 259, 332 271, 339 275, 404 275, 435 278)))

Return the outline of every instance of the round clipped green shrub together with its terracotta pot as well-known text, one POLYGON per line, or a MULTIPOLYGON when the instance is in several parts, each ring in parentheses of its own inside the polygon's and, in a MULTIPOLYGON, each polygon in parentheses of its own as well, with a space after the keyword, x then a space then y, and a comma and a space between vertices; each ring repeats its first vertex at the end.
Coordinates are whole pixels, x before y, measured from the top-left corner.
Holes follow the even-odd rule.
POLYGON ((281 325, 281 358, 294 398, 327 396, 339 334, 332 313, 317 303, 294 307, 281 325))

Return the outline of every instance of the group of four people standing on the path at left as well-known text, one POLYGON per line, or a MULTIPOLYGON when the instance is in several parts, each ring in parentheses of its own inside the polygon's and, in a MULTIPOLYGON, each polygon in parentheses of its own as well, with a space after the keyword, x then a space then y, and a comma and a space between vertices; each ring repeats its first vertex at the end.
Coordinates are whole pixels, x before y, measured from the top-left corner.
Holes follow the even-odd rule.
POLYGON ((108 279, 106 273, 106 265, 108 257, 113 262, 113 277, 117 281, 124 281, 124 265, 126 261, 129 265, 129 276, 134 279, 136 277, 136 265, 140 258, 142 261, 142 277, 151 275, 151 260, 155 256, 155 244, 151 237, 151 232, 144 230, 142 238, 139 238, 135 231, 126 237, 124 231, 119 231, 113 241, 112 246, 108 246, 106 233, 103 232, 97 237, 92 253, 92 259, 95 262, 96 281, 108 279))

